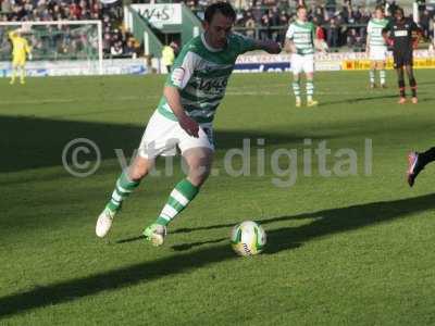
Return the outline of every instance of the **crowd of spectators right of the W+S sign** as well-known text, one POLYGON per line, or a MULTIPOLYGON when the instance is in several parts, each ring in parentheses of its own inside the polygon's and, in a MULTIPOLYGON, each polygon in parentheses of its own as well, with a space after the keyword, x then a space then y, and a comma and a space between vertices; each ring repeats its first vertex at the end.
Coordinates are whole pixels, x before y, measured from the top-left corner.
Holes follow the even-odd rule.
MULTIPOLYGON (((202 17, 207 4, 202 0, 187 0, 187 5, 202 17)), ((320 3, 321 1, 316 1, 320 3)), ((371 18, 371 9, 356 5, 351 0, 322 1, 323 4, 308 4, 310 20, 318 27, 318 38, 323 38, 330 48, 348 46, 363 48, 366 37, 366 24, 371 18)), ((238 17, 236 28, 247 36, 257 36, 261 39, 272 38, 283 41, 286 27, 296 17, 295 9, 303 4, 303 0, 236 0, 238 17)), ((375 4, 387 4, 387 15, 394 12, 397 4, 394 0, 377 0, 375 4)), ((432 38, 434 30, 435 5, 422 7, 420 11, 420 25, 425 38, 432 38)))

